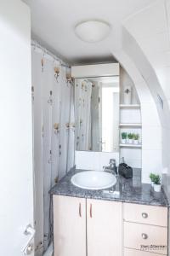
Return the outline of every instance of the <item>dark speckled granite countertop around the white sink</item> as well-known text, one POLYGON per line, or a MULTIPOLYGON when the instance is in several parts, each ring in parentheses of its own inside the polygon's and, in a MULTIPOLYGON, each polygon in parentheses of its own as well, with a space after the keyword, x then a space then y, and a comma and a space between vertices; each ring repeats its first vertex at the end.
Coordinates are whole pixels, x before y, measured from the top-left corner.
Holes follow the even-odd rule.
POLYGON ((151 189, 150 184, 141 183, 140 177, 136 174, 130 179, 117 177, 116 185, 110 189, 88 190, 77 188, 71 183, 72 175, 82 171, 85 170, 76 170, 75 168, 72 168, 59 183, 54 185, 49 193, 51 195, 65 195, 96 200, 122 201, 150 206, 169 207, 163 189, 161 189, 160 193, 154 192, 153 189, 151 189))

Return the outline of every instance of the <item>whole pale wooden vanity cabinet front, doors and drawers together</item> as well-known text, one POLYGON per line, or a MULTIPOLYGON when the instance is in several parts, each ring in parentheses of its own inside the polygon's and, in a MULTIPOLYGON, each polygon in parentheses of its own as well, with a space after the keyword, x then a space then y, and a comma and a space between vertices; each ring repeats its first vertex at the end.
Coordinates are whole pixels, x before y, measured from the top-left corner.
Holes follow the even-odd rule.
POLYGON ((167 207, 63 195, 53 203, 54 256, 167 255, 167 207))

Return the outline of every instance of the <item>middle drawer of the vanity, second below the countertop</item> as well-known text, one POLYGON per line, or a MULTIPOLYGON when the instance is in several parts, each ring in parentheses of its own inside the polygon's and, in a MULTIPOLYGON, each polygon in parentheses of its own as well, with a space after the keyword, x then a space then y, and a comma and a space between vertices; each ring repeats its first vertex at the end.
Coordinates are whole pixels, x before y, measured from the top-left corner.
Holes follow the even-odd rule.
POLYGON ((167 254, 167 228, 124 222, 124 247, 141 250, 145 246, 151 253, 167 254))

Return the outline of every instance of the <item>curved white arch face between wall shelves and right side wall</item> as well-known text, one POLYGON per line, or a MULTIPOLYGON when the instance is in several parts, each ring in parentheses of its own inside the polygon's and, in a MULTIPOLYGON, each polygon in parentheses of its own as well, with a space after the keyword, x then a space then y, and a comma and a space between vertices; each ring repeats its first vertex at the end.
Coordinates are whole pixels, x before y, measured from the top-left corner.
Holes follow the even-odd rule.
MULTIPOLYGON (((138 54, 139 49, 135 49, 133 42, 127 45, 131 45, 131 49, 134 48, 134 55, 138 54)), ((142 117, 142 181, 143 183, 150 183, 150 172, 161 173, 163 168, 161 122, 149 86, 144 80, 142 73, 139 72, 137 64, 133 61, 132 53, 126 51, 127 49, 112 49, 113 55, 120 61, 122 67, 133 80, 139 96, 142 117), (154 140, 156 136, 157 140, 154 140)))

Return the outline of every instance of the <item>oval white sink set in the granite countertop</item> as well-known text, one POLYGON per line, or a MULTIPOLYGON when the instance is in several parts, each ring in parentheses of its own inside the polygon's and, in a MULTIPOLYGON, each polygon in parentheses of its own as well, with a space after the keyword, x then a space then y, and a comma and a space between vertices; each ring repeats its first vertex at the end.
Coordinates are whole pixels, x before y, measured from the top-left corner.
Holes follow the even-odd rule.
POLYGON ((116 184, 116 177, 108 172, 78 172, 71 177, 71 183, 81 189, 108 189, 116 184))

